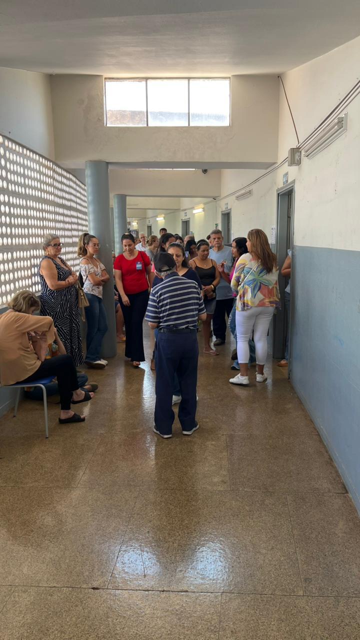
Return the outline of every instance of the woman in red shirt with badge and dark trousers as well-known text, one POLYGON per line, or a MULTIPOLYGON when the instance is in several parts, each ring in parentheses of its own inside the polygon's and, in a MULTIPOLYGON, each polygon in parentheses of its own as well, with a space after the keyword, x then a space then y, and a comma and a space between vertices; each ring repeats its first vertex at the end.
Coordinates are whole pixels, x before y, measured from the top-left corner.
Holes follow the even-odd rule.
POLYGON ((121 241, 124 253, 114 262, 115 283, 125 321, 125 356, 130 358, 133 367, 138 367, 145 360, 142 325, 149 300, 151 262, 145 252, 135 249, 132 234, 124 234, 121 241))

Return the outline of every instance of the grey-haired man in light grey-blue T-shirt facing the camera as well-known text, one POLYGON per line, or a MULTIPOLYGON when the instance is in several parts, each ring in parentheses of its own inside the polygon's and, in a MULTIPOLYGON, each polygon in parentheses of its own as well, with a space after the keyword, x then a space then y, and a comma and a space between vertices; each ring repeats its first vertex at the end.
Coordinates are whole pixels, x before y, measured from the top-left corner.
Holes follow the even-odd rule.
MULTIPOLYGON (((217 264, 224 265, 224 272, 230 273, 233 264, 233 253, 231 247, 224 246, 224 237, 220 229, 211 231, 211 250, 209 258, 215 260, 217 264)), ((222 275, 222 274, 221 274, 222 275)), ((227 321, 225 317, 229 317, 233 308, 234 298, 229 282, 224 276, 217 285, 217 305, 213 316, 213 333, 215 335, 214 345, 224 344, 226 339, 227 321)))

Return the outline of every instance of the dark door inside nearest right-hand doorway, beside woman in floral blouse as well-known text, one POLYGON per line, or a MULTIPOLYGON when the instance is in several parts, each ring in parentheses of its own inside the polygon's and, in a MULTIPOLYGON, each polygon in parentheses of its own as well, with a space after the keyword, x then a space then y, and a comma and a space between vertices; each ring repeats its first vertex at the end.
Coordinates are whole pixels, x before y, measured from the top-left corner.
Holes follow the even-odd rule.
POLYGON ((293 248, 293 212, 294 184, 292 183, 287 185, 286 188, 277 191, 277 241, 275 253, 279 264, 281 310, 277 310, 274 316, 273 328, 273 358, 277 360, 284 358, 286 338, 289 332, 289 365, 291 355, 291 318, 288 319, 288 313, 284 303, 284 291, 289 280, 281 275, 281 268, 288 255, 288 251, 292 251, 293 248))

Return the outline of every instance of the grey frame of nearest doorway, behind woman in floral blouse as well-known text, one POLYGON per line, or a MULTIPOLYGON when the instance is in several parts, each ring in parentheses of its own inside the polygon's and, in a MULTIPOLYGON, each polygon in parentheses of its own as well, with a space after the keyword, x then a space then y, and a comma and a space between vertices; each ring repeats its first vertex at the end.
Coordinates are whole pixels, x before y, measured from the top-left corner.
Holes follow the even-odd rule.
MULTIPOLYGON (((283 252, 283 248, 284 248, 284 244, 287 244, 287 240, 288 240, 288 236, 287 236, 287 232, 288 232, 288 225, 287 225, 287 221, 286 221, 286 226, 283 225, 283 221, 284 221, 284 217, 288 215, 288 200, 287 198, 282 198, 282 196, 284 195, 288 195, 288 193, 292 191, 292 202, 291 202, 291 220, 290 220, 290 229, 289 229, 289 240, 290 240, 290 247, 291 248, 291 252, 293 250, 293 237, 294 237, 294 217, 295 217, 295 180, 291 180, 291 182, 288 182, 288 184, 285 184, 284 186, 280 187, 279 189, 276 189, 276 241, 275 241, 275 253, 277 255, 278 258, 278 262, 279 262, 279 290, 281 292, 281 301, 284 300, 284 289, 285 289, 285 284, 284 284, 284 276, 281 275, 280 273, 280 269, 282 267, 283 264, 283 260, 284 257, 282 257, 282 255, 284 255, 283 252), (281 250, 282 255, 279 256, 279 250, 281 250), (281 264, 280 264, 281 261, 281 264)), ((291 253, 291 255, 293 256, 293 253, 291 253)), ((291 275, 291 289, 293 290, 293 275, 291 275)), ((291 326, 293 326, 293 298, 294 296, 291 295, 291 304, 290 304, 290 333, 289 333, 289 365, 288 365, 288 374, 289 374, 289 378, 290 378, 290 374, 291 374, 291 355, 292 355, 292 351, 291 351, 291 326)), ((282 333, 284 332, 284 321, 285 321, 285 308, 284 305, 282 305, 282 308, 280 311, 277 312, 276 316, 274 317, 274 328, 273 328, 273 340, 272 340, 272 352, 273 352, 273 357, 275 357, 275 340, 277 340, 278 334, 277 334, 277 330, 276 330, 276 321, 279 323, 279 320, 281 321, 281 328, 282 328, 282 333)))

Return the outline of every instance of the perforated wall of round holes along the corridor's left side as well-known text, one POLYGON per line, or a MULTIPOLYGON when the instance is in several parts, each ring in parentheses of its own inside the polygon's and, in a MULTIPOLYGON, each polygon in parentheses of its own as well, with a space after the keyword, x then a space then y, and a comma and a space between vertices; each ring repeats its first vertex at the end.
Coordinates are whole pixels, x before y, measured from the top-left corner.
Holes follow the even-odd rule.
POLYGON ((87 228, 85 186, 58 164, 0 135, 0 307, 20 289, 40 292, 45 234, 60 237, 61 257, 78 271, 76 248, 87 228))

